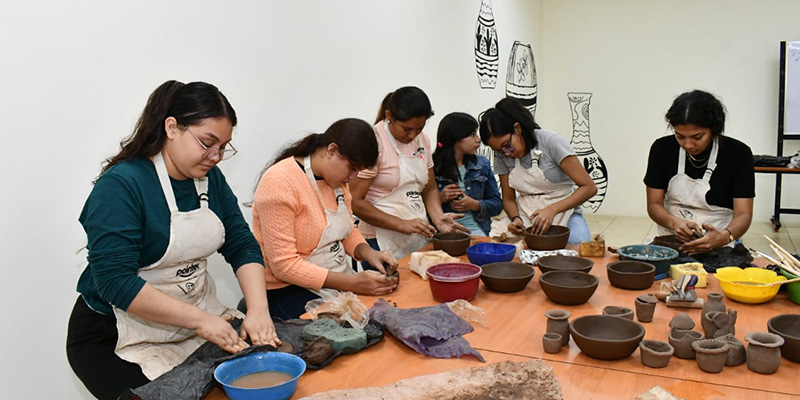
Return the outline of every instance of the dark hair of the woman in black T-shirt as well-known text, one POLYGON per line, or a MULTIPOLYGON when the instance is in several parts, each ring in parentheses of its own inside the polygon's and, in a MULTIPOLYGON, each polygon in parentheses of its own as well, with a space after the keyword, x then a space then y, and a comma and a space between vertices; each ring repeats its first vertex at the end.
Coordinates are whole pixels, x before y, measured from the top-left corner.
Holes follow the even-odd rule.
POLYGON ((725 131, 725 107, 713 94, 702 90, 686 92, 675 98, 664 119, 671 126, 697 125, 717 137, 725 131))

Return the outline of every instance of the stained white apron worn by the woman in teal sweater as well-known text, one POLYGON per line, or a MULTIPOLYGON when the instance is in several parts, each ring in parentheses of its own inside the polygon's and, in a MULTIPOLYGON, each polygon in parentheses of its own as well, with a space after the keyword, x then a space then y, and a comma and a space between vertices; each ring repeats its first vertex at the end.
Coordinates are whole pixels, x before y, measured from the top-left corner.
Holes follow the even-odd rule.
MULTIPOLYGON (((171 213, 169 245, 160 260, 139 269, 138 275, 170 297, 211 314, 241 317, 240 312, 217 299, 214 281, 206 268, 206 258, 225 242, 225 227, 208 208, 207 178, 194 180, 200 193, 200 208, 181 212, 161 153, 153 157, 153 163, 171 213)), ((150 380, 182 363, 206 341, 191 329, 146 321, 116 307, 114 315, 119 333, 117 355, 139 364, 150 380)))

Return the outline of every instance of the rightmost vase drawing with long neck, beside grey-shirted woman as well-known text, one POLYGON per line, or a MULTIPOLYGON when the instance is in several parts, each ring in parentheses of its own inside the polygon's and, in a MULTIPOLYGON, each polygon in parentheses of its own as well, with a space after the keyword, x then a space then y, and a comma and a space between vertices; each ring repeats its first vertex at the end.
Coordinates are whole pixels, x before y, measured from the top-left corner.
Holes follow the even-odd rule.
POLYGON ((586 168, 586 172, 597 185, 597 194, 583 204, 584 208, 591 208, 592 212, 603 204, 608 189, 608 170, 603 158, 597 154, 592 146, 589 136, 589 101, 591 93, 567 93, 570 110, 572 111, 572 139, 569 143, 575 149, 578 160, 586 168))

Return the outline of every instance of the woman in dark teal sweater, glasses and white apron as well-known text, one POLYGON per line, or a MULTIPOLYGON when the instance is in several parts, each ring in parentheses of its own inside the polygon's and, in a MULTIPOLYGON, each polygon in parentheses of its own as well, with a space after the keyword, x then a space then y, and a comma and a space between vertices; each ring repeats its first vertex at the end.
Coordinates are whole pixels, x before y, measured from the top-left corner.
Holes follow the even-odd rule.
POLYGON ((213 85, 169 81, 107 160, 80 215, 88 265, 78 280, 67 357, 100 399, 183 362, 205 341, 235 353, 278 345, 261 250, 216 164, 236 153, 236 113, 213 85), (248 305, 222 304, 206 270, 219 252, 248 305))

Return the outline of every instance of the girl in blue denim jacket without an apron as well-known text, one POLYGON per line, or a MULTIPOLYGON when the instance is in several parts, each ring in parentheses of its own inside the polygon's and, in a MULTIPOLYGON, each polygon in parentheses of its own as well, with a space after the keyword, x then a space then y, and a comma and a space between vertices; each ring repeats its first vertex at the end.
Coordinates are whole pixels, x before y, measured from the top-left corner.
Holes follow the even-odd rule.
POLYGON ((494 172, 481 145, 478 121, 461 112, 447 114, 439 123, 433 170, 444 212, 463 213, 458 223, 472 236, 489 236, 491 217, 503 210, 494 172))

